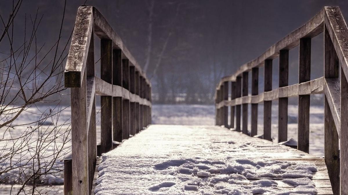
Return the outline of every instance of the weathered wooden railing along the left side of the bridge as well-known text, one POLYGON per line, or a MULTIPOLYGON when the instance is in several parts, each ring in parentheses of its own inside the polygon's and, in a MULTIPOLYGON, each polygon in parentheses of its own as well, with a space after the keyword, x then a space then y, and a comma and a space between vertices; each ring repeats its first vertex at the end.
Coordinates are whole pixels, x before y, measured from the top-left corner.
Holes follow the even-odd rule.
POLYGON ((72 157, 64 159, 64 194, 90 194, 97 158, 95 95, 101 96, 100 152, 151 123, 151 84, 94 7, 78 8, 65 66, 71 90, 72 157), (95 76, 94 34, 100 38, 101 77, 95 76))

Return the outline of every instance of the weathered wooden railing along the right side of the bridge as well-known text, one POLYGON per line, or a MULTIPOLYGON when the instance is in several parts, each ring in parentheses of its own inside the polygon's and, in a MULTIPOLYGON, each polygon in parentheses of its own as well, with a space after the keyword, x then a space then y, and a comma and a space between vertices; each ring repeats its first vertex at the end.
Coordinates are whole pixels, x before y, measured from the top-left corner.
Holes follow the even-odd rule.
POLYGON ((263 102, 263 138, 271 140, 271 102, 278 100, 278 142, 286 141, 288 97, 298 96, 298 149, 308 153, 310 95, 324 93, 325 163, 334 194, 346 195, 348 194, 347 78, 348 28, 339 7, 324 7, 306 24, 272 45, 261 56, 241 66, 235 74, 221 79, 215 94, 216 125, 240 131, 242 105, 242 132, 247 134, 248 104, 251 104, 250 134, 254 136, 258 133, 258 103, 263 102), (322 32, 324 32, 324 77, 310 80, 311 39, 322 32), (299 83, 288 85, 288 52, 297 45, 299 45, 299 83), (276 57, 279 57, 279 87, 272 90, 272 60, 276 57), (264 67, 264 92, 260 94, 259 67, 264 67), (251 95, 248 94, 250 71, 251 95), (228 107, 231 107, 230 124, 228 124, 228 107))

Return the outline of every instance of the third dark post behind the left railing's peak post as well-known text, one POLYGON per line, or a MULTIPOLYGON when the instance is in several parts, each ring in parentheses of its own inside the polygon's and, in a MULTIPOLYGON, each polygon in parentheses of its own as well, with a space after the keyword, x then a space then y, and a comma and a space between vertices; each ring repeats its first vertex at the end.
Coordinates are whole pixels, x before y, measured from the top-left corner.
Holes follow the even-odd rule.
MULTIPOLYGON (((122 87, 129 90, 129 61, 122 59, 122 87)), ((129 100, 122 100, 122 139, 129 138, 129 100)))

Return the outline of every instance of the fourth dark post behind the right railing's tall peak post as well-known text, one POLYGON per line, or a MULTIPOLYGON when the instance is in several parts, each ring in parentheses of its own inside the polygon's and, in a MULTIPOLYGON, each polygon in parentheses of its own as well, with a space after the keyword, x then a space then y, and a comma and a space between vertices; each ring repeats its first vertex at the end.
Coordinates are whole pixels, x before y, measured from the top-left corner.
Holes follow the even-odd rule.
MULTIPOLYGON (((259 94, 259 68, 251 69, 251 95, 259 94)), ((258 103, 251 104, 251 131, 250 136, 258 134, 258 103)))

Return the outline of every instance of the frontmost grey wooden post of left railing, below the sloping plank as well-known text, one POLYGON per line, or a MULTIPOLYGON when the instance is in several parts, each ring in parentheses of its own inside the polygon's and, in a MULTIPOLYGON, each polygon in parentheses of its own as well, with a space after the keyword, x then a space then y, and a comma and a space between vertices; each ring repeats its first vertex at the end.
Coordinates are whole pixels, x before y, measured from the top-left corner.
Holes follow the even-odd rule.
POLYGON ((88 194, 86 74, 80 88, 71 88, 71 151, 73 194, 88 194))

